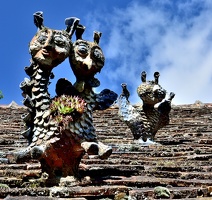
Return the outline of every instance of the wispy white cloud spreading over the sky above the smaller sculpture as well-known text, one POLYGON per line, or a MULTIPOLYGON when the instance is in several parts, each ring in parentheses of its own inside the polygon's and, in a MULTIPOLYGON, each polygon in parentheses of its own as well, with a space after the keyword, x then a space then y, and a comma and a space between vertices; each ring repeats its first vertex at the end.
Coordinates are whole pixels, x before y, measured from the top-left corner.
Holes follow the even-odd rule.
POLYGON ((212 3, 160 2, 134 2, 96 19, 107 61, 99 75, 101 87, 120 94, 120 83, 126 82, 136 103, 140 72, 146 70, 152 79, 159 71, 160 84, 176 93, 175 104, 211 102, 212 3))

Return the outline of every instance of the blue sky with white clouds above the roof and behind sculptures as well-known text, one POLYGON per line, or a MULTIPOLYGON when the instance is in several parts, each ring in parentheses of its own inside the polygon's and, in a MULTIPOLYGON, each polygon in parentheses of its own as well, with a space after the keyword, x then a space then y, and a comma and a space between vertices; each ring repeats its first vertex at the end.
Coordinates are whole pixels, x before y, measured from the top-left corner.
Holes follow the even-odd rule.
MULTIPOLYGON (((84 39, 101 31, 100 46, 106 62, 97 75, 100 92, 109 88, 121 93, 127 83, 132 103, 141 102, 136 89, 140 72, 147 79, 159 71, 159 83, 175 92, 174 104, 212 102, 212 1, 210 0, 7 0, 1 2, 0 104, 22 104, 20 82, 30 64, 28 44, 37 28, 33 13, 44 12, 44 25, 65 29, 64 20, 75 16, 86 26, 84 39)), ((73 38, 75 40, 75 38, 73 38)), ((75 82, 66 60, 53 70, 49 91, 54 96, 56 81, 75 82)))

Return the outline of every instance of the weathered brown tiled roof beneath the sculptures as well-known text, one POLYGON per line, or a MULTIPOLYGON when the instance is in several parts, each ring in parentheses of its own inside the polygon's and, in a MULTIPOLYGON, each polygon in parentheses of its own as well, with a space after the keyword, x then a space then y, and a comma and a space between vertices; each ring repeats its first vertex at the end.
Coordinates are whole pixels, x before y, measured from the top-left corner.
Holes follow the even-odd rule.
POLYGON ((95 111, 99 141, 112 146, 113 153, 107 160, 85 155, 82 182, 70 187, 36 182, 26 187, 30 180, 42 181, 39 162, 8 163, 13 151, 27 146, 20 134, 25 112, 23 106, 0 106, 0 198, 154 199, 157 186, 168 189, 174 199, 211 198, 212 104, 173 106, 170 124, 151 145, 133 140, 116 106, 95 111))

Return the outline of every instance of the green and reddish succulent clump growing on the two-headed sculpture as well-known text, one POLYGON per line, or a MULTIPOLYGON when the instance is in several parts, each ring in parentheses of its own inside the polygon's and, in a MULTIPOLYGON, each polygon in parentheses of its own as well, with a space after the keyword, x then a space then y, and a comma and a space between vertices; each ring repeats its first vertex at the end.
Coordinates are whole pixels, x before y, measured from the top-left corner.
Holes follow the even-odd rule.
POLYGON ((77 96, 62 95, 55 98, 50 105, 50 112, 62 127, 77 120, 85 111, 86 102, 77 96))

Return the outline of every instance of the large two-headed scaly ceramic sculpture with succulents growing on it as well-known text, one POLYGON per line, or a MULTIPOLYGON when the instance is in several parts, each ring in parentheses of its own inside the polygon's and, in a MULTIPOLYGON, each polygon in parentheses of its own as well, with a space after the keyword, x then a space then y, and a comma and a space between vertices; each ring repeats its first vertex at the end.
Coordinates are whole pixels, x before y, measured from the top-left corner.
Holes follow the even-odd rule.
POLYGON ((97 139, 92 121, 94 109, 106 109, 117 98, 109 89, 93 92, 100 82, 94 76, 104 66, 99 47, 101 34, 95 32, 94 42, 82 39, 84 27, 78 18, 67 18, 66 30, 54 30, 43 25, 43 13, 34 14, 37 34, 29 44, 31 65, 25 68, 30 79, 20 84, 23 104, 29 113, 23 117, 27 130, 22 134, 29 146, 18 152, 17 161, 38 159, 49 179, 78 177, 78 168, 85 153, 107 159, 112 148, 97 139), (76 31, 77 40, 71 37, 76 31), (76 83, 65 78, 56 84, 57 96, 50 98, 48 85, 52 69, 69 57, 76 83))

